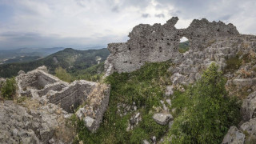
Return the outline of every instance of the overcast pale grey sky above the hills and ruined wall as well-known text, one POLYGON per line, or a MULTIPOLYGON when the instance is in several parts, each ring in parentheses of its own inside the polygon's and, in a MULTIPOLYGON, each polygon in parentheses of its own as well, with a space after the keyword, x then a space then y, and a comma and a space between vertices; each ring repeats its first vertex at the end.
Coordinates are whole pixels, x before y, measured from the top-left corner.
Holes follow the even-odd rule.
POLYGON ((0 50, 22 47, 106 47, 126 42, 140 23, 177 28, 194 18, 233 23, 256 34, 255 0, 0 0, 0 50))

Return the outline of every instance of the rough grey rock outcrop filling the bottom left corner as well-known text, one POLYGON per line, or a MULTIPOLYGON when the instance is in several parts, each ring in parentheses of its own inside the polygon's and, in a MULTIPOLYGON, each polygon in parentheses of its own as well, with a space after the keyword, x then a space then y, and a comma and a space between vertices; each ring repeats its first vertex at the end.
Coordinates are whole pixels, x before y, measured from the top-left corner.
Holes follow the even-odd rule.
POLYGON ((50 139, 70 143, 72 134, 66 140, 56 137, 58 128, 66 124, 64 115, 53 104, 28 109, 12 101, 0 102, 0 143, 48 143, 50 139))

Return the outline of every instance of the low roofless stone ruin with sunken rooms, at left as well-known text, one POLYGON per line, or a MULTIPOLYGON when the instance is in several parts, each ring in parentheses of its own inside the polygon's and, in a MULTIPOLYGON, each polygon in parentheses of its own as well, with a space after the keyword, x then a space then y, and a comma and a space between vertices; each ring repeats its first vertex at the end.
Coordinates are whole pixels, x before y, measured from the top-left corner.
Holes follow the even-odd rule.
POLYGON ((86 103, 78 110, 78 116, 92 131, 98 129, 109 102, 110 86, 85 80, 69 84, 48 74, 45 66, 27 74, 21 72, 16 82, 19 97, 30 95, 41 103, 58 105, 68 113, 74 113, 74 110, 86 103))

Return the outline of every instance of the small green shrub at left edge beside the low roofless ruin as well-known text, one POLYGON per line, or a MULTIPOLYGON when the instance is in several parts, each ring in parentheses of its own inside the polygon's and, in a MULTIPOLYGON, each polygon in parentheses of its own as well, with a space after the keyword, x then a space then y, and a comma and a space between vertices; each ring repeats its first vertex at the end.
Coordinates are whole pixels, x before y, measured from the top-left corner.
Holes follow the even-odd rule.
POLYGON ((16 94, 15 78, 7 78, 6 82, 1 87, 2 98, 14 99, 15 94, 16 94))

